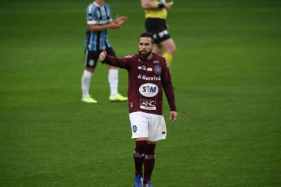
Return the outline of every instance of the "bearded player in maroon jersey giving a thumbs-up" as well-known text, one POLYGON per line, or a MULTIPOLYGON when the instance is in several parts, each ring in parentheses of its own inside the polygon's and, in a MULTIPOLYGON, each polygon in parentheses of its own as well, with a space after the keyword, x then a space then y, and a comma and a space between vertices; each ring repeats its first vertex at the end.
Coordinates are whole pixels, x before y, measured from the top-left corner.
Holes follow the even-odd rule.
POLYGON ((152 187, 150 178, 155 163, 156 142, 166 139, 162 89, 170 105, 170 119, 174 122, 177 117, 169 67, 163 56, 152 53, 153 48, 153 35, 143 33, 138 38, 138 54, 117 58, 102 51, 99 57, 101 62, 127 69, 129 73, 129 119, 132 139, 136 141, 135 187, 152 187))

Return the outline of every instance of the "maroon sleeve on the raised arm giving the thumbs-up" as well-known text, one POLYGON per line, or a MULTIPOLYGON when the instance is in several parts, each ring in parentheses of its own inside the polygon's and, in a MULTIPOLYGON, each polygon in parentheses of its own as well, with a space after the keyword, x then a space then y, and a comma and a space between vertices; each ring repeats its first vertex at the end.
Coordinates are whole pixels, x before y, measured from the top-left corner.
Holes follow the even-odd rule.
POLYGON ((132 58, 133 58, 133 56, 117 58, 117 57, 114 57, 114 56, 107 55, 103 62, 105 62, 105 63, 107 63, 111 66, 116 66, 116 67, 120 67, 120 68, 128 70, 129 64, 132 61, 132 58))

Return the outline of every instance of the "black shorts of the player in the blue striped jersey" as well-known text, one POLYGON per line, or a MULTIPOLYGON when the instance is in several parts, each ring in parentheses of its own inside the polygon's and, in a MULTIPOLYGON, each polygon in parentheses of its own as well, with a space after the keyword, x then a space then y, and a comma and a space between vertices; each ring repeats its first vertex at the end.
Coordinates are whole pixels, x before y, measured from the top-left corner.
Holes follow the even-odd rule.
MULTIPOLYGON (((116 54, 115 54, 113 48, 109 47, 105 51, 107 51, 107 55, 116 57, 116 54)), ((85 66, 90 67, 90 68, 95 68, 97 65, 97 62, 98 62, 98 57, 100 56, 100 53, 102 53, 102 51, 85 50, 84 53, 85 53, 84 54, 85 55, 85 66)))

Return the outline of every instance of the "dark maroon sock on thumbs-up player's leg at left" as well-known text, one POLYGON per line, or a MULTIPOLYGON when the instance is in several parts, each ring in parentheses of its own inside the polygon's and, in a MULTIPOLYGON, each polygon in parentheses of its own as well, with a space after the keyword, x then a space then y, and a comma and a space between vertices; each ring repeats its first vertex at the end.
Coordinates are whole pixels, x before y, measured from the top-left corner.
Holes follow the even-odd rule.
POLYGON ((146 147, 147 141, 136 141, 136 148, 134 151, 136 175, 143 175, 143 159, 145 157, 146 147))

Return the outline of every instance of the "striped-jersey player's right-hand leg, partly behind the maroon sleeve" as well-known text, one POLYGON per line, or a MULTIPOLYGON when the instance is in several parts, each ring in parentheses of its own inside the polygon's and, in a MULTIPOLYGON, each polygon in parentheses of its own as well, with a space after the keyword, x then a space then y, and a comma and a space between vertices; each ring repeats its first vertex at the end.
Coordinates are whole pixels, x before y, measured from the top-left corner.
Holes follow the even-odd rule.
MULTIPOLYGON (((107 55, 115 56, 113 48, 107 48, 107 55)), ((118 67, 109 66, 108 81, 110 87, 109 100, 111 101, 126 101, 127 97, 122 96, 118 93, 118 67)))

